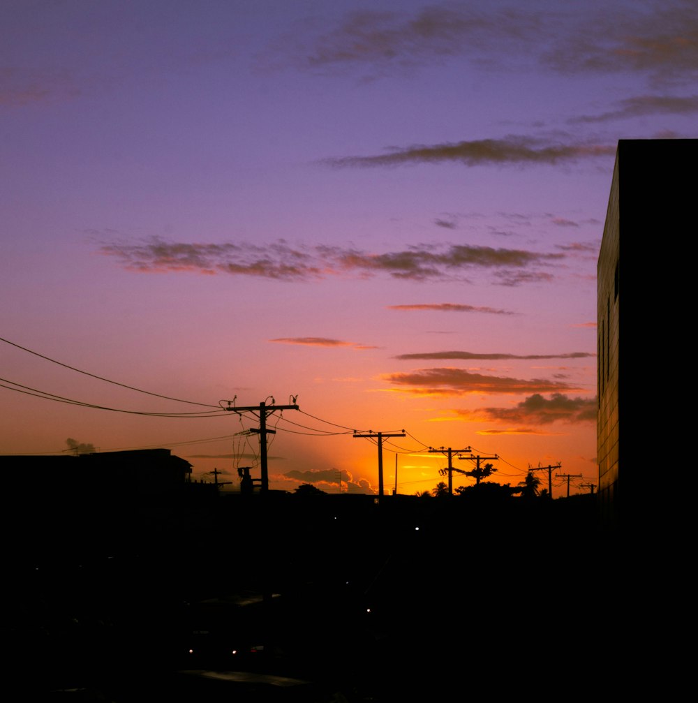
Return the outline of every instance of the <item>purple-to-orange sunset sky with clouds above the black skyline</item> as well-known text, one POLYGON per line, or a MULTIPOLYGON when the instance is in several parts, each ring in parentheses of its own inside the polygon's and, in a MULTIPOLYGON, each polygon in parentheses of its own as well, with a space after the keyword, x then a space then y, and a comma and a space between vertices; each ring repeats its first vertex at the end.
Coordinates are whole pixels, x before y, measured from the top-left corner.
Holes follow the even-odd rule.
POLYGON ((616 145, 698 137, 694 2, 0 0, 0 36, 0 453, 235 489, 224 408, 295 397, 273 489, 375 491, 354 432, 405 433, 388 492, 429 447, 597 483, 616 145))

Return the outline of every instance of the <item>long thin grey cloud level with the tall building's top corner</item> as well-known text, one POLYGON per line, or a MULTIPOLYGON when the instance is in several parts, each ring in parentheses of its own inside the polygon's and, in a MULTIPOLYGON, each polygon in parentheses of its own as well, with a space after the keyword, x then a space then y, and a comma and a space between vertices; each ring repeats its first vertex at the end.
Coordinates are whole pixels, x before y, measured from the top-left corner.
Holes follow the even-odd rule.
POLYGON ((457 162, 464 166, 557 165, 600 156, 613 156, 616 144, 546 143, 531 136, 510 135, 502 139, 475 139, 432 145, 392 148, 387 154, 324 159, 335 167, 384 167, 409 164, 457 162))

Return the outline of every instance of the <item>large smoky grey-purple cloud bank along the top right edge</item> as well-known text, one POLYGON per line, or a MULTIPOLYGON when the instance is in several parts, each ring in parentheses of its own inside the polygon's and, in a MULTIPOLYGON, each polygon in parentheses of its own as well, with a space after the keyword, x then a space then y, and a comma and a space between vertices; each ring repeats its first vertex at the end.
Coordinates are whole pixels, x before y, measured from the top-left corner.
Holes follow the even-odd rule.
MULTIPOLYGON (((304 27, 307 29, 308 27, 304 27)), ((301 28, 297 28, 300 30, 301 28)), ((315 72, 359 70, 365 78, 465 58, 479 69, 552 70, 562 75, 637 74, 691 83, 698 67, 693 0, 531 7, 479 0, 417 11, 358 11, 328 31, 276 39, 278 65, 315 72)))

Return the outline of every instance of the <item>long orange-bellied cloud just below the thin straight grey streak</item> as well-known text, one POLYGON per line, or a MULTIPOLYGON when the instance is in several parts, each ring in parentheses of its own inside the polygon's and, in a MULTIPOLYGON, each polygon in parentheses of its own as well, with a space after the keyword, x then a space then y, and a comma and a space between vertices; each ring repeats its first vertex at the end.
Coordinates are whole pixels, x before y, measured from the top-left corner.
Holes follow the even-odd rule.
POLYGON ((522 380, 507 376, 488 376, 461 368, 421 368, 406 373, 382 375, 382 380, 408 386, 404 392, 428 396, 460 396, 470 393, 520 394, 526 392, 560 392, 576 390, 560 381, 540 378, 522 380))

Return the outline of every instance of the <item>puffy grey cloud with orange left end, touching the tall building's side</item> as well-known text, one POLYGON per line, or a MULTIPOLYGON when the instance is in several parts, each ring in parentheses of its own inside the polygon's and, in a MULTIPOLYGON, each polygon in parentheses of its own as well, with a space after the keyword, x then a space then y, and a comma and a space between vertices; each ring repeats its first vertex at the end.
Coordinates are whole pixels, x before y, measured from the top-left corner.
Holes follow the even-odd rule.
POLYGON ((550 425, 555 422, 595 423, 597 401, 595 398, 571 398, 553 393, 544 398, 534 393, 513 408, 479 408, 475 411, 456 411, 461 418, 472 422, 523 423, 524 425, 550 425))

